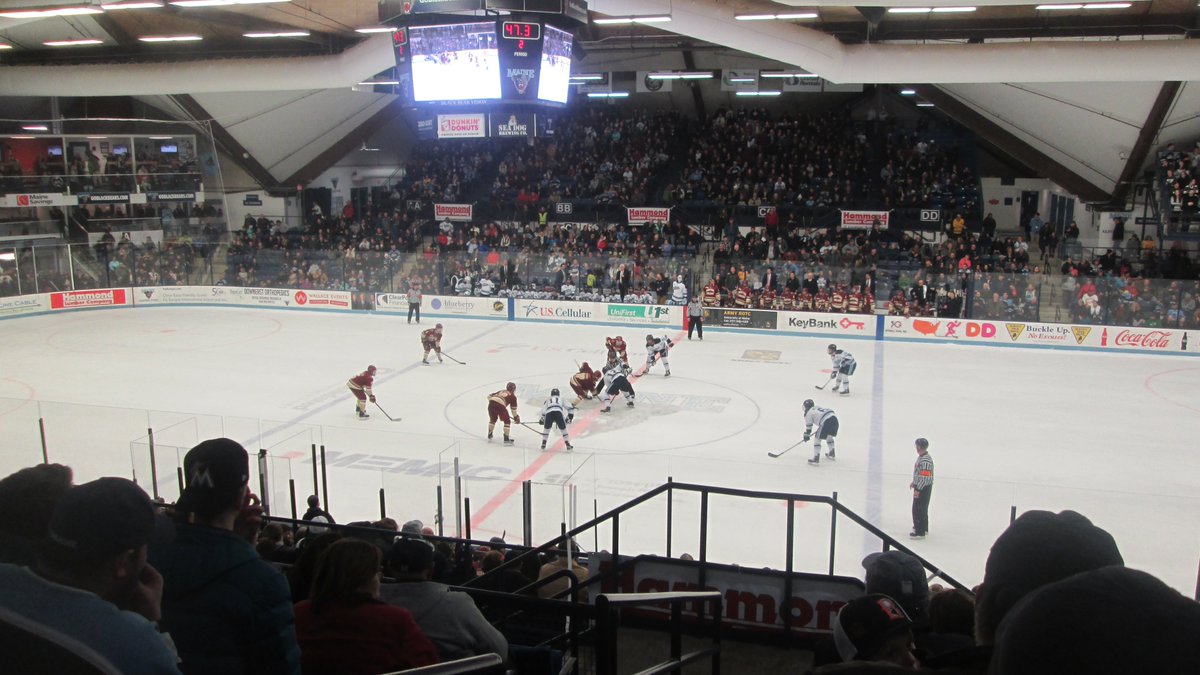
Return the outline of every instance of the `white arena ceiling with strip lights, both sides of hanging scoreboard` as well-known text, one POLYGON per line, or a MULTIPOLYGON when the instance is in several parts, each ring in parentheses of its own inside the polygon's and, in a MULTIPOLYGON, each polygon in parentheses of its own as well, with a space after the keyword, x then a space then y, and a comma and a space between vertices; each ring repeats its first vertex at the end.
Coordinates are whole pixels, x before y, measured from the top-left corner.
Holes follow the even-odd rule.
MULTIPOLYGON (((2 2, 0 133, 86 97, 130 97, 212 120, 228 157, 264 186, 312 179, 376 135, 396 136, 395 97, 355 86, 392 62, 388 35, 356 30, 378 25, 377 0, 110 5, 134 1, 2 2), (191 40, 143 40, 169 36, 191 40), (68 40, 94 43, 47 44, 68 40)), ((1050 5, 1066 2, 592 0, 593 22, 671 20, 583 26, 577 67, 786 65, 834 83, 913 88, 1015 162, 1109 201, 1156 144, 1200 137, 1196 0, 1050 5)))

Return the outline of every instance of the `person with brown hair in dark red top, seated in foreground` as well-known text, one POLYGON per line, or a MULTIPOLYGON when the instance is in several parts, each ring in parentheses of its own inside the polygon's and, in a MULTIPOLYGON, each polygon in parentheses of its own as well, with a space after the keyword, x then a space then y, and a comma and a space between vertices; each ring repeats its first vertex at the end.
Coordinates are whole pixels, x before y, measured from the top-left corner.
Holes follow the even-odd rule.
POLYGON ((296 603, 305 675, 374 675, 438 663, 413 615, 379 599, 383 552, 344 538, 317 562, 308 599, 296 603))

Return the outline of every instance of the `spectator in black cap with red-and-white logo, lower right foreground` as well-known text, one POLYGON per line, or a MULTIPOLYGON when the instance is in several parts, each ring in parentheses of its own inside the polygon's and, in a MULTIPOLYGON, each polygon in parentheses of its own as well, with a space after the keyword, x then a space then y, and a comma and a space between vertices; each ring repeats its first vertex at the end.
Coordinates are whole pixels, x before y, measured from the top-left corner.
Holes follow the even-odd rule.
POLYGON ((882 661, 917 668, 912 621, 899 603, 882 593, 842 605, 834 620, 833 640, 844 662, 882 661))

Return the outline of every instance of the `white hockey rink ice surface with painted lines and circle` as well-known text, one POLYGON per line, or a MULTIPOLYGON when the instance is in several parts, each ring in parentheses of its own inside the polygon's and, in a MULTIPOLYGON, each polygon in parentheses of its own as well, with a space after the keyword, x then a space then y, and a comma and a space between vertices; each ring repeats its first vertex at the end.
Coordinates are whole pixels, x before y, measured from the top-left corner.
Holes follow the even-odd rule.
MULTIPOLYGON (((574 453, 557 430, 514 426, 516 446, 485 440, 485 396, 512 381, 522 420, 536 424, 553 387, 570 394, 576 362, 599 366, 604 338, 623 335, 630 363, 644 363, 646 329, 426 317, 200 307, 82 311, 0 321, 0 471, 41 461, 37 419, 50 461, 76 480, 134 476, 151 490, 148 429, 155 430, 158 492, 179 494, 188 447, 226 435, 266 450, 272 513, 288 515, 312 491, 313 443, 324 444, 329 509, 340 522, 388 515, 432 524, 440 484, 455 531, 454 466, 470 500, 472 534, 521 538, 521 480, 533 480, 534 538, 584 522, 677 482, 830 495, 968 585, 1009 509, 1074 509, 1111 532, 1127 565, 1184 595, 1200 558, 1200 362, 1150 357, 847 340, 858 359, 851 395, 815 390, 828 378, 828 338, 709 330, 676 341, 672 376, 636 378, 637 406, 601 416, 584 401, 571 425, 574 453), (449 359, 421 365, 418 335, 440 321, 449 359), (346 380, 379 368, 379 404, 354 418, 346 380), (833 407, 838 460, 809 466, 802 402, 833 407), (930 536, 910 542, 913 440, 936 462, 930 536)), ((656 334, 662 334, 661 330, 656 334)), ((252 460, 252 464, 253 460, 252 460)), ((252 467, 252 485, 258 471, 252 467)), ((713 497, 709 560, 785 566, 787 504, 713 497)), ((678 494, 672 554, 698 552, 700 500, 678 494)), ((828 566, 830 509, 798 504, 798 571, 828 566)), ((620 552, 664 554, 666 497, 620 519, 620 552)), ((581 537, 608 549, 611 531, 581 537)), ((862 575, 877 538, 840 518, 840 574, 862 575)))

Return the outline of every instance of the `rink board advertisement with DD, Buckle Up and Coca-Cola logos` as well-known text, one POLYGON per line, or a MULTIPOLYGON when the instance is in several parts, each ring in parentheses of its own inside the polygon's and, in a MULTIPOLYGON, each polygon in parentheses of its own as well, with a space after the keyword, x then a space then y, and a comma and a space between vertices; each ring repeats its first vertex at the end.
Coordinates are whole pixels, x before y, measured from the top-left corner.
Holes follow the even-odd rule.
MULTIPOLYGON (((1142 352, 1187 352, 1187 330, 1175 328, 1132 328, 1081 325, 1032 321, 974 321, 965 318, 916 318, 884 316, 883 336, 907 340, 990 342, 1063 348, 1136 350, 1142 352)), ((1195 350, 1192 346, 1190 350, 1195 350)))

